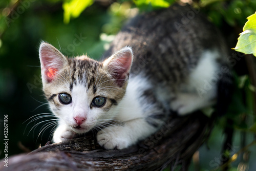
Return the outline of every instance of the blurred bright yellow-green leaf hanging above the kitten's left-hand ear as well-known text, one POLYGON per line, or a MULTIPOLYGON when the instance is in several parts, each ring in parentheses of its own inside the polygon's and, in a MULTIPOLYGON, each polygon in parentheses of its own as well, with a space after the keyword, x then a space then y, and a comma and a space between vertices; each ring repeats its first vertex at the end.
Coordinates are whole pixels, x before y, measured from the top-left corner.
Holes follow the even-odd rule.
POLYGON ((68 24, 70 22, 70 17, 77 18, 84 9, 92 4, 93 0, 71 0, 63 3, 64 23, 68 24))

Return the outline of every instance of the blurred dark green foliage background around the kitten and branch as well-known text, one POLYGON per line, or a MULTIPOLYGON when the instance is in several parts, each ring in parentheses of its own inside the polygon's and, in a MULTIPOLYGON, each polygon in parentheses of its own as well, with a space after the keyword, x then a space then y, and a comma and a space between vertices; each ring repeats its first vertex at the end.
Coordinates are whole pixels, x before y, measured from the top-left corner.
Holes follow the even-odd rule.
MULTIPOLYGON (((1 0, 0 2, 0 156, 3 158, 3 121, 8 115, 8 155, 28 152, 51 140, 53 126, 41 118, 29 123, 32 116, 50 113, 41 91, 38 48, 47 41, 67 56, 88 54, 99 59, 108 49, 114 35, 127 18, 139 11, 151 11, 168 7, 175 1, 61 1, 61 0, 1 0), (74 4, 74 3, 78 3, 74 4), (27 121, 26 121, 27 120, 27 121), (41 123, 40 123, 41 122, 41 123), (40 123, 37 125, 37 123, 40 123), (45 131, 45 132, 44 132, 45 131), (38 136, 38 134, 40 135, 38 136)), ((183 1, 184 2, 184 1, 183 1)), ((246 17, 256 11, 256 1, 185 1, 200 8, 236 46, 238 33, 246 17), (230 38, 232 37, 232 38, 230 38)), ((211 170, 218 167, 226 154, 221 148, 225 135, 223 130, 231 127, 233 144, 229 156, 255 141, 251 81, 245 61, 238 61, 237 90, 229 114, 219 120, 207 144, 199 151, 199 164, 191 170, 211 170), (242 68, 241 70, 238 68, 242 68), (245 119, 243 119, 245 118, 245 119), (232 121, 231 125, 227 120, 232 121), (243 141, 243 142, 242 142, 243 141), (245 142, 244 142, 245 141, 245 142)), ((243 156, 230 165, 230 170, 241 167, 256 170, 255 145, 243 151, 243 156), (247 167, 249 166, 249 167, 247 167)), ((248 169, 245 169, 248 170, 248 169)))

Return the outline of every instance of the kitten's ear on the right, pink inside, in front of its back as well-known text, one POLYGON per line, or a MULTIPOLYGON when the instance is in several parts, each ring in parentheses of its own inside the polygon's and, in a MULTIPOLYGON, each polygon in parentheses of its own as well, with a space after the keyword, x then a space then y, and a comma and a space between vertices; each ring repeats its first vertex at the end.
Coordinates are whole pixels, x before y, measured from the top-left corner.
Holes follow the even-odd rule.
POLYGON ((125 47, 104 60, 103 67, 116 79, 118 86, 122 87, 129 76, 132 62, 133 51, 130 47, 125 47))

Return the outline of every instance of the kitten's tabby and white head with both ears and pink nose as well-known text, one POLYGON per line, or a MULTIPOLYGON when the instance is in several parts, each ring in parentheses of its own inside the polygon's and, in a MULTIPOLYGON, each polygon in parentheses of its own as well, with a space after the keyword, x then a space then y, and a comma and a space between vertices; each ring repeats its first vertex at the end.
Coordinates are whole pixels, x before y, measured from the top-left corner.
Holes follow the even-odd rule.
POLYGON ((129 79, 131 48, 98 62, 84 55, 67 58, 42 42, 39 57, 45 96, 61 122, 85 133, 115 117, 129 79))

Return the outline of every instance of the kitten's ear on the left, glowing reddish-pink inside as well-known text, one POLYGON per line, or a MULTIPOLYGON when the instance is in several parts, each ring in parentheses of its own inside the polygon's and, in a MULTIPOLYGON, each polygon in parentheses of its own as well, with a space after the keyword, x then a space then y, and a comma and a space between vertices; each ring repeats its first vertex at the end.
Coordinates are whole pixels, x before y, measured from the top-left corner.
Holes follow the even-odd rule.
POLYGON ((39 48, 42 83, 50 83, 57 72, 67 63, 67 58, 52 45, 42 42, 39 48))

